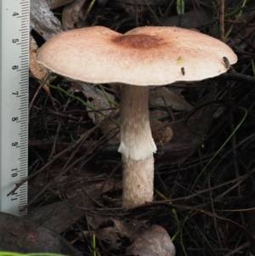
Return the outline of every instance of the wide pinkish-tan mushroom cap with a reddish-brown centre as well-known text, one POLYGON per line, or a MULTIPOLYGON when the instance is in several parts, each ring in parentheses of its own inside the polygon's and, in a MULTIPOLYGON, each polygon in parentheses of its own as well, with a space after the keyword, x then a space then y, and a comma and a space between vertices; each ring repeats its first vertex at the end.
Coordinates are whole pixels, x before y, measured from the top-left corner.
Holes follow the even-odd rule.
POLYGON ((39 63, 64 77, 140 86, 216 77, 229 69, 226 60, 234 64, 237 57, 218 39, 165 26, 125 34, 103 26, 64 31, 37 52, 39 63))

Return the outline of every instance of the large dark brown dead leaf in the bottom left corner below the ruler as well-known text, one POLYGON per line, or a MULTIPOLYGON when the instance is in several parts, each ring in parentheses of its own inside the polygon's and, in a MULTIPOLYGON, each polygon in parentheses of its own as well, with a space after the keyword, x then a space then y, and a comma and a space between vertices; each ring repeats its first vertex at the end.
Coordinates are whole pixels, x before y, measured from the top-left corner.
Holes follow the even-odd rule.
POLYGON ((0 237, 1 251, 82 256, 81 252, 53 230, 8 213, 0 213, 0 237))

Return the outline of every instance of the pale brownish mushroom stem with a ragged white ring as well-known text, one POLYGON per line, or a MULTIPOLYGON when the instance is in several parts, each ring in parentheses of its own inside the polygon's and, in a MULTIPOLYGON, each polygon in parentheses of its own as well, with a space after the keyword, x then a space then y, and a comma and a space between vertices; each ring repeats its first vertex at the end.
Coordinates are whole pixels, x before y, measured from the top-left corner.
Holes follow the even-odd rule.
POLYGON ((122 207, 131 207, 153 198, 156 145, 151 136, 148 87, 122 84, 121 145, 123 162, 122 207))

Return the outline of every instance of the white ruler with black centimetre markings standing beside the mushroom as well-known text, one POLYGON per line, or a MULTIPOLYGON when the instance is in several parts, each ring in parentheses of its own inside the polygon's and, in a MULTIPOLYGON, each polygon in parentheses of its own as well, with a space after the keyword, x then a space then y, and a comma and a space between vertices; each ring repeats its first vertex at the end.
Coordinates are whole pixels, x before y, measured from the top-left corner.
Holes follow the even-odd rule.
POLYGON ((27 184, 30 0, 0 0, 0 211, 23 216, 27 184))

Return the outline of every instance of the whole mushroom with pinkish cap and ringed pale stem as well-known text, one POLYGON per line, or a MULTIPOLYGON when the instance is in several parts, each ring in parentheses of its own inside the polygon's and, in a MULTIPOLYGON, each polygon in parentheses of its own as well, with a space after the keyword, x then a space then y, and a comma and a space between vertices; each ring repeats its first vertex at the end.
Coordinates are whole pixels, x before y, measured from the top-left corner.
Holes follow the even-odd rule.
POLYGON ((122 206, 153 199, 156 145, 151 136, 149 85, 216 77, 237 61, 225 43, 178 27, 138 27, 125 34, 94 26, 61 32, 37 52, 51 71, 82 82, 121 83, 122 206))

